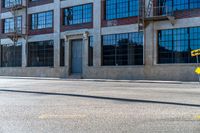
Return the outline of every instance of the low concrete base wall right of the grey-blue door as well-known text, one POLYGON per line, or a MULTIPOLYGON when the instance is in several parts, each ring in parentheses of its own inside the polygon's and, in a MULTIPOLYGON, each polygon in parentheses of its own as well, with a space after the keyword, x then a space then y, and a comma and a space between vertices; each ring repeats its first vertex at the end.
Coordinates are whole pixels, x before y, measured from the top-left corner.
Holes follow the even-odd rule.
POLYGON ((85 78, 198 81, 195 66, 157 65, 153 67, 93 67, 87 69, 85 78))

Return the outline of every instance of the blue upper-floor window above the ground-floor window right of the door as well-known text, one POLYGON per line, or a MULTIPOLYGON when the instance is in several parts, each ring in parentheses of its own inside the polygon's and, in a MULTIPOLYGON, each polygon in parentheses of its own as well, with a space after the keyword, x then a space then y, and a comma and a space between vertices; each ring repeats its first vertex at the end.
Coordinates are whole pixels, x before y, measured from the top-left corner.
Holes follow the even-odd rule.
POLYGON ((138 16, 138 0, 106 0, 106 20, 138 16))

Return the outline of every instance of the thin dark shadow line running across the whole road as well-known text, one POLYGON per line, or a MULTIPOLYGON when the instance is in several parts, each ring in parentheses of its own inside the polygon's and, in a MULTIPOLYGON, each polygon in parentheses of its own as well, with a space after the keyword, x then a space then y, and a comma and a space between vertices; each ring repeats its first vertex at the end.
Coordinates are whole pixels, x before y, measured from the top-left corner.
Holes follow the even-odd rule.
POLYGON ((83 94, 39 92, 39 91, 28 91, 28 90, 7 90, 7 89, 0 89, 0 92, 51 95, 51 96, 69 96, 69 97, 81 97, 81 98, 91 98, 91 99, 100 99, 100 100, 112 100, 112 101, 120 101, 120 102, 135 102, 135 103, 151 103, 151 104, 167 104, 167 105, 200 107, 199 104, 153 101, 153 100, 140 100, 140 99, 127 99, 127 98, 115 98, 115 97, 92 96, 92 95, 83 95, 83 94))

